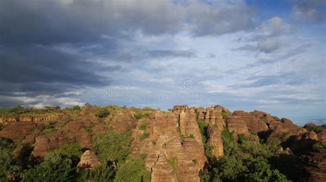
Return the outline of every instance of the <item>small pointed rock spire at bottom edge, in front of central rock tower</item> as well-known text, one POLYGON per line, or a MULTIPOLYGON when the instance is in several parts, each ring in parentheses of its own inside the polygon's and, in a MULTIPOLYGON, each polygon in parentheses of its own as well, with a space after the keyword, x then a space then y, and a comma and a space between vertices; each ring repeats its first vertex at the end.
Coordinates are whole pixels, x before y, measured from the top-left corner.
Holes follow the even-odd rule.
POLYGON ((177 175, 173 168, 166 161, 166 156, 162 153, 151 168, 151 181, 153 182, 177 182, 177 175))

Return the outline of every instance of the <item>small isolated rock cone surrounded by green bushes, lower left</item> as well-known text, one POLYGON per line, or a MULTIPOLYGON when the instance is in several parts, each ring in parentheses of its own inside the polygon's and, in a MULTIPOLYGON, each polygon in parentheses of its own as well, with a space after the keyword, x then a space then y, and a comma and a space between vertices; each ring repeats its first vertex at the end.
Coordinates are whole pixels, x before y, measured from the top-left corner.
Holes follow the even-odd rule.
POLYGON ((80 157, 80 161, 78 163, 78 169, 87 169, 91 170, 96 168, 96 166, 100 166, 100 159, 96 155, 96 153, 92 151, 85 151, 83 155, 80 157))

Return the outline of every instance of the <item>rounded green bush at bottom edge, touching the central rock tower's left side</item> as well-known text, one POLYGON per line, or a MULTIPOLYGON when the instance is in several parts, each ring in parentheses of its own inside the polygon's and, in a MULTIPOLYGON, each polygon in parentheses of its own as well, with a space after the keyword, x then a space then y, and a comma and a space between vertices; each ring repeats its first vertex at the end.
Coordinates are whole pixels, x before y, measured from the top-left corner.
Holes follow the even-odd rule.
POLYGON ((131 159, 118 168, 116 181, 150 181, 151 173, 146 170, 144 161, 140 158, 131 159))

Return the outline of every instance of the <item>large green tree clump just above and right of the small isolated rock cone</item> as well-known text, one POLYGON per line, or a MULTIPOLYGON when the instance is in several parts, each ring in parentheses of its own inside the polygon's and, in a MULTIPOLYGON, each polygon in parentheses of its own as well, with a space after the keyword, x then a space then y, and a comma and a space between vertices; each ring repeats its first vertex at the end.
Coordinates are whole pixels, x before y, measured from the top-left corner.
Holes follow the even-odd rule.
POLYGON ((131 133, 115 133, 110 129, 107 133, 95 135, 93 144, 103 164, 107 161, 121 163, 131 153, 131 133))

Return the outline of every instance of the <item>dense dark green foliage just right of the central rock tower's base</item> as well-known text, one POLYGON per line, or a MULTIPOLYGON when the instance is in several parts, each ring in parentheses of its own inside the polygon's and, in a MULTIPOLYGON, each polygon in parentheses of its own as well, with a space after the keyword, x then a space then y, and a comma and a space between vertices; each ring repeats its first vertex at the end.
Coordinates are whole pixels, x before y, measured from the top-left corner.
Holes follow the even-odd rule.
POLYGON ((276 146, 260 144, 243 135, 236 141, 228 130, 222 132, 222 138, 224 157, 209 157, 208 168, 201 172, 202 181, 287 181, 268 161, 275 155, 272 151, 277 151, 276 146))

